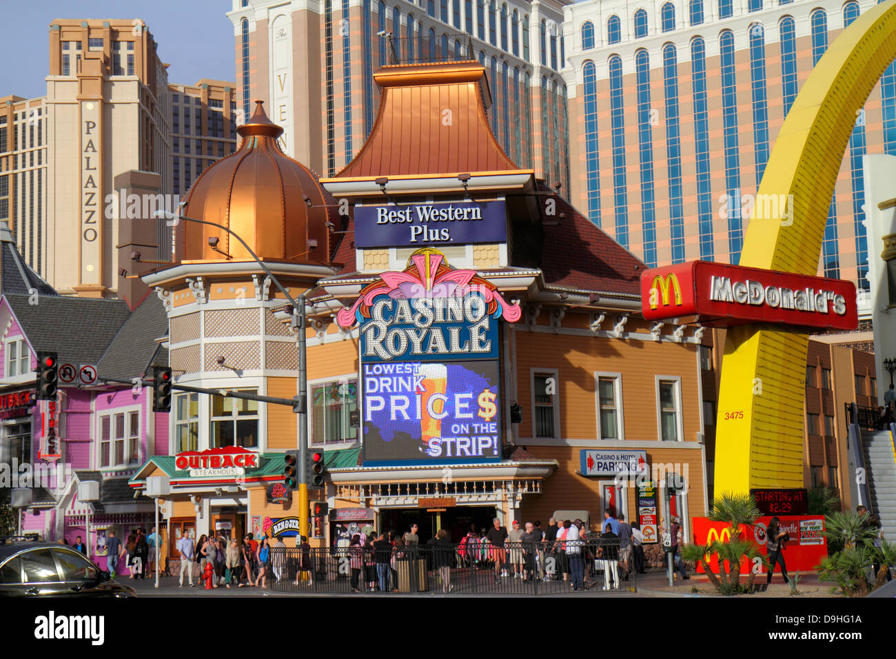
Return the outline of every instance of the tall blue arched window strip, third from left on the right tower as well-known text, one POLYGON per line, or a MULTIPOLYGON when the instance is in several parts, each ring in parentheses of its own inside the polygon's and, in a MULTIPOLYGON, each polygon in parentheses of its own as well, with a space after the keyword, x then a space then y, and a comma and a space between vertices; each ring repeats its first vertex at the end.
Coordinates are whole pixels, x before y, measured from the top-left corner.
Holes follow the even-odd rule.
POLYGON ((653 129, 650 121, 650 56, 643 48, 634 54, 638 99, 638 152, 641 156, 641 217, 644 263, 657 264, 657 217, 653 172, 653 129))

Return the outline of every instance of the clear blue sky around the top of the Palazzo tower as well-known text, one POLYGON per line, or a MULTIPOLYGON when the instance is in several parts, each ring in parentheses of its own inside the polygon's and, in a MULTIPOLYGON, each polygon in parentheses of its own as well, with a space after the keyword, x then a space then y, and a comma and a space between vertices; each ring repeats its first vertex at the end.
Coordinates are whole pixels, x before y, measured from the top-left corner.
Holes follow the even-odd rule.
POLYGON ((49 24, 55 18, 142 18, 168 62, 168 82, 193 84, 200 78, 232 81, 236 75, 229 0, 4 0, 10 20, 0 39, 0 96, 26 99, 47 93, 49 24), (22 53, 29 56, 23 57, 22 53))

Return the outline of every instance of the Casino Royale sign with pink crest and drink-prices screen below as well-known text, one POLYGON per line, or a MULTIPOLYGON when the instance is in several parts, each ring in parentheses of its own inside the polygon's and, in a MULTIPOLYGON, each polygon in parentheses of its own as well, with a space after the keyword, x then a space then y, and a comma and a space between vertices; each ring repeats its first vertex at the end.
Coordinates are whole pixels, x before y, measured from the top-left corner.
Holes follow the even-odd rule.
POLYGON ((358 324, 364 464, 500 461, 498 321, 520 316, 432 248, 361 290, 337 320, 358 324))

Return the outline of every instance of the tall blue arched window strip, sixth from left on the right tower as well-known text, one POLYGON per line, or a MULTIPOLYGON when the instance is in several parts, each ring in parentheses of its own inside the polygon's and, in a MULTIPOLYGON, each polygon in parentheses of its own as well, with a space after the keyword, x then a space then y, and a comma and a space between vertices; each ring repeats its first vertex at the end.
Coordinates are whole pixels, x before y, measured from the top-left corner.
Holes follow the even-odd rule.
POLYGON ((744 229, 740 217, 740 150, 737 146, 737 76, 734 34, 723 30, 719 36, 722 83, 722 134, 725 143, 725 187, 728 193, 728 253, 730 262, 740 261, 744 229))

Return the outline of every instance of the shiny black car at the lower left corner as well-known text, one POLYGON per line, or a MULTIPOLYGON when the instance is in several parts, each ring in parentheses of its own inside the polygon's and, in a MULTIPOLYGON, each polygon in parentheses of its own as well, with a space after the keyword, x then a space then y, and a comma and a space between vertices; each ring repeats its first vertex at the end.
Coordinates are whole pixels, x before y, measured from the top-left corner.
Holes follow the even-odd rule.
POLYGON ((134 588, 55 542, 0 544, 0 597, 134 597, 134 588))

